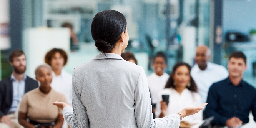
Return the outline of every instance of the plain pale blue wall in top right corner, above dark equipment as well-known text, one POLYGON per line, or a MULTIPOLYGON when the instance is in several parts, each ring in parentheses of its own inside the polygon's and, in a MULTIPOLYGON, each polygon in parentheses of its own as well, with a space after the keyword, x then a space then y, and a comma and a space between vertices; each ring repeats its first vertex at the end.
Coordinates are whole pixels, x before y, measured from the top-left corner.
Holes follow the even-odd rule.
POLYGON ((223 0, 223 32, 256 28, 256 0, 223 0))

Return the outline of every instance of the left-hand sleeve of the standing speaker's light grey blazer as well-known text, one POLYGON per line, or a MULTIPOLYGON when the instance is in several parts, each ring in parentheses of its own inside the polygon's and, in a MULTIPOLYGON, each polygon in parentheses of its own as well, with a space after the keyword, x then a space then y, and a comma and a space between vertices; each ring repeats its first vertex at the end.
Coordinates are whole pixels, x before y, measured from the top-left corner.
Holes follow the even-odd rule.
POLYGON ((81 101, 81 93, 78 92, 75 83, 75 69, 72 74, 72 106, 63 108, 63 117, 71 128, 89 128, 89 119, 86 108, 81 101))

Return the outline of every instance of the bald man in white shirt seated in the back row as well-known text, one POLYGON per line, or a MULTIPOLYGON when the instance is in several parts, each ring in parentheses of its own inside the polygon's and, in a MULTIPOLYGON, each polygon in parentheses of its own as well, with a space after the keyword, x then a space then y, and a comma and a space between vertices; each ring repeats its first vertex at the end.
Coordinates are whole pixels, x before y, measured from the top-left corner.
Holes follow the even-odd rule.
POLYGON ((209 62, 211 50, 206 45, 199 45, 196 48, 196 64, 191 69, 191 76, 198 86, 202 103, 206 102, 210 86, 228 77, 228 71, 224 66, 209 62))

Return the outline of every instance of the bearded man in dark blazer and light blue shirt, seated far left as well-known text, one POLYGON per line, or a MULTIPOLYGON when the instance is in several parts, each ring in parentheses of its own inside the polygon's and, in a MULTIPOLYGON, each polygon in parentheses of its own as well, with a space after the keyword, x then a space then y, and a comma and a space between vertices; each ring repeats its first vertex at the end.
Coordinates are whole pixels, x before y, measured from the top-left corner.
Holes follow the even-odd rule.
POLYGON ((22 50, 13 50, 9 61, 14 71, 0 81, 0 128, 20 128, 14 113, 22 96, 37 88, 38 82, 25 75, 26 57, 22 50))

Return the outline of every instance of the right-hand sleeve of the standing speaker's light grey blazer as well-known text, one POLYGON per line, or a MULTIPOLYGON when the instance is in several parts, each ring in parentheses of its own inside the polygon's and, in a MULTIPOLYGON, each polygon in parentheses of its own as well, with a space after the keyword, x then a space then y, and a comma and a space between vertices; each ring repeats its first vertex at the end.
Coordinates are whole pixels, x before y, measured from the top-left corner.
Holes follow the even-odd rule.
POLYGON ((143 68, 135 90, 135 118, 138 128, 179 128, 180 126, 178 114, 153 119, 148 83, 143 68))

